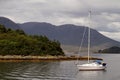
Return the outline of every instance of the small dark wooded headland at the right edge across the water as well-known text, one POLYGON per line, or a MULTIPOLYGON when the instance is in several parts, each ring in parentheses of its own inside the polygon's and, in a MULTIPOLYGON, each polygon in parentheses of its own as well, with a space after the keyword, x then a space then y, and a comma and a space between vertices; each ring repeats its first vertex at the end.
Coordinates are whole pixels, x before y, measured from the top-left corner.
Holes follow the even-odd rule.
POLYGON ((120 53, 120 47, 113 46, 107 49, 99 50, 99 53, 120 53))

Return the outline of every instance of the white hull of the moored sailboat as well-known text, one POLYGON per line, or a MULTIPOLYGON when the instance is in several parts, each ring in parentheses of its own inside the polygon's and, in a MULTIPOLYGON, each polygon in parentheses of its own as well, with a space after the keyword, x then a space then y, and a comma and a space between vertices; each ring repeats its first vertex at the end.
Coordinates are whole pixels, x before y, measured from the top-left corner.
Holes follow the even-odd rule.
POLYGON ((98 71, 98 70, 105 70, 106 68, 106 66, 96 63, 77 65, 77 67, 80 71, 98 71))

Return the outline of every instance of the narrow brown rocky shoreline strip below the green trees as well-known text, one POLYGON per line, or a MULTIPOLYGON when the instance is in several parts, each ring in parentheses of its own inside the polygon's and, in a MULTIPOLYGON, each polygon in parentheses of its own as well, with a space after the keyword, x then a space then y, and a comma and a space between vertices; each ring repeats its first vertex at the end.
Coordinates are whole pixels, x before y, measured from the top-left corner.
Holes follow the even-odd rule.
MULTIPOLYGON (((0 62, 17 61, 57 61, 57 60, 87 60, 85 56, 21 56, 21 55, 0 55, 0 62)), ((90 57, 90 60, 102 60, 101 58, 90 57)))

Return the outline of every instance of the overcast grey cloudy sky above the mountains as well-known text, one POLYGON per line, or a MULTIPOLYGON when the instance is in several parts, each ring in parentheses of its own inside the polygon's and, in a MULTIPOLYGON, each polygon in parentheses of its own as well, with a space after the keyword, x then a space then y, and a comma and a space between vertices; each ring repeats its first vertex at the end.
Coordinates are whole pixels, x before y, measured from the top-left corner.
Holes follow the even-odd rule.
POLYGON ((120 0, 0 0, 0 16, 16 23, 88 25, 90 21, 91 28, 120 41, 120 0))

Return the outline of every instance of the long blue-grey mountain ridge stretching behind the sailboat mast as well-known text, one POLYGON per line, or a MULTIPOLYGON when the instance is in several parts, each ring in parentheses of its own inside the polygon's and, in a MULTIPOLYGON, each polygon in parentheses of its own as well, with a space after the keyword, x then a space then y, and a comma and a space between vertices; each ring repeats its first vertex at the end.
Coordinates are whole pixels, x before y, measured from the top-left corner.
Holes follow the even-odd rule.
MULTIPOLYGON (((59 40, 63 45, 79 46, 84 26, 65 24, 55 26, 50 23, 28 22, 19 25, 27 34, 46 35, 50 39, 59 40)), ((88 29, 88 28, 87 28, 88 29)), ((85 34, 84 47, 87 47, 87 35, 85 34)), ((104 48, 110 46, 120 46, 120 42, 112 40, 98 31, 91 29, 91 46, 93 48, 104 48)))

